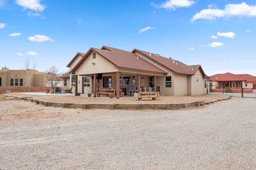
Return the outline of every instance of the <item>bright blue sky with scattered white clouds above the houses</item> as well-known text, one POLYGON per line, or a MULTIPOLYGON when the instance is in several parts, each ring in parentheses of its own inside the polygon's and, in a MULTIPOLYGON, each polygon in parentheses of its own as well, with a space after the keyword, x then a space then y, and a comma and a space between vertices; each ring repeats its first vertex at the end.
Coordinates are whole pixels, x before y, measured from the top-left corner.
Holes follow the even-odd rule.
POLYGON ((255 0, 0 0, 0 67, 66 72, 103 45, 256 76, 255 0))

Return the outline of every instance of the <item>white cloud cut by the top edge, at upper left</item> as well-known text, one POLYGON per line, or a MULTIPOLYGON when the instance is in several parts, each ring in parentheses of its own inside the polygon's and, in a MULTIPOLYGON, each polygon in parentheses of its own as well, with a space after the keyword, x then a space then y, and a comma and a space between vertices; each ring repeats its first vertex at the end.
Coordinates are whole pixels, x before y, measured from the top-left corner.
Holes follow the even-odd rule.
POLYGON ((16 4, 23 7, 23 10, 43 11, 46 7, 40 4, 40 0, 16 0, 16 4))

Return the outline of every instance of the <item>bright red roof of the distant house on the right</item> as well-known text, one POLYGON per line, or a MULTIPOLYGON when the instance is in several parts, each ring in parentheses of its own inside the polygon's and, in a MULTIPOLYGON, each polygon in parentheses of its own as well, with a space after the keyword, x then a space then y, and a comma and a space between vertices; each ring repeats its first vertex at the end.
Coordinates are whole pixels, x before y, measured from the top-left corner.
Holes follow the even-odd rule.
POLYGON ((250 74, 232 74, 227 72, 225 74, 215 74, 210 76, 212 81, 246 81, 256 82, 256 76, 250 74))

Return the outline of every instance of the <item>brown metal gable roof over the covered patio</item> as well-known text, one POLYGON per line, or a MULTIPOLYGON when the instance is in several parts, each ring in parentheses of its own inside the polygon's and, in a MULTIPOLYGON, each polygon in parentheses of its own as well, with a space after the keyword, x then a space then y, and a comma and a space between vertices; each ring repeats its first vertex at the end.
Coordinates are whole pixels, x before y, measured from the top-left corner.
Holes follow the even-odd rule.
POLYGON ((146 70, 149 72, 166 74, 164 70, 158 68, 154 64, 149 63, 141 57, 138 57, 134 53, 107 46, 103 46, 101 49, 90 48, 89 51, 84 55, 84 57, 78 62, 78 64, 76 64, 76 66, 71 70, 71 72, 74 72, 92 52, 98 53, 104 59, 114 64, 114 66, 116 66, 117 68, 146 70))

